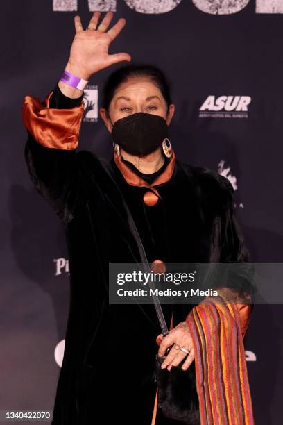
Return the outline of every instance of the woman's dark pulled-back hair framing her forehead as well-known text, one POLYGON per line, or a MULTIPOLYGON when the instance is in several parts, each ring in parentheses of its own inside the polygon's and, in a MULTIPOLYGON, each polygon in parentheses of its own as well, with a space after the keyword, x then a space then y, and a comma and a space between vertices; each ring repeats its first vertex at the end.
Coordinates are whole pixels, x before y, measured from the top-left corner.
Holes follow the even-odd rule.
POLYGON ((153 83, 155 83, 155 85, 157 85, 157 87, 160 89, 160 92, 162 92, 162 96, 167 103, 168 109, 169 104, 172 103, 169 82, 160 68, 155 67, 155 65, 147 64, 123 65, 123 67, 120 67, 112 72, 112 74, 108 76, 103 87, 103 108, 105 108, 107 111, 109 110, 110 102, 114 97, 114 92, 117 87, 132 76, 148 76, 148 78, 151 78, 153 83))

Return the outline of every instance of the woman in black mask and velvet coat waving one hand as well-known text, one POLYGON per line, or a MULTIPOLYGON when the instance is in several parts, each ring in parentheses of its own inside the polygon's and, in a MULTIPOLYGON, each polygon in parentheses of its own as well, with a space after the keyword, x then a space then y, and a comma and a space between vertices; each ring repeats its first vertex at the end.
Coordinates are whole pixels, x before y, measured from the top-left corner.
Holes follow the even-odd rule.
MULTIPOLYGON (((108 29, 112 16, 107 12, 98 24, 100 12, 94 12, 86 30, 76 16, 64 76, 44 102, 31 96, 23 102, 28 171, 64 224, 69 254, 69 318, 52 424, 101 424, 111 417, 123 424, 180 424, 157 409, 157 344, 160 356, 172 347, 163 368, 183 360, 184 370, 195 367, 191 385, 197 385, 201 424, 252 424, 241 341, 251 308, 242 294, 232 292, 236 307, 209 297, 197 306, 163 306, 171 327, 164 338, 153 306, 108 303, 108 264, 140 261, 140 242, 148 261, 165 268, 166 262, 248 260, 230 182, 175 158, 167 138, 174 105, 156 67, 121 67, 105 84, 100 113, 114 143, 110 165, 90 151, 76 151, 84 84, 101 69, 131 59, 127 53, 108 55, 126 23, 119 19, 108 29), (209 319, 209 328, 201 319, 209 319), (237 338, 219 349, 215 335, 228 327, 237 338), (207 338, 215 340, 213 347, 205 348, 207 338), (209 369, 214 360, 215 373, 209 369), (223 375, 223 365, 230 374, 223 375), (226 391, 230 385, 233 393, 226 391), (210 397, 215 390, 217 397, 210 397)), ((233 291, 222 290, 221 300, 233 291)))

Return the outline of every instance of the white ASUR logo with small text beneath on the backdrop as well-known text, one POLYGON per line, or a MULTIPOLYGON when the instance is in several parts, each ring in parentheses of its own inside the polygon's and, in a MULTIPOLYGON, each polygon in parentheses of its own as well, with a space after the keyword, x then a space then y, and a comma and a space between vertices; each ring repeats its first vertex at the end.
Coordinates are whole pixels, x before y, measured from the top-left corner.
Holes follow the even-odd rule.
POLYGON ((250 96, 208 96, 200 106, 201 118, 248 118, 250 96))

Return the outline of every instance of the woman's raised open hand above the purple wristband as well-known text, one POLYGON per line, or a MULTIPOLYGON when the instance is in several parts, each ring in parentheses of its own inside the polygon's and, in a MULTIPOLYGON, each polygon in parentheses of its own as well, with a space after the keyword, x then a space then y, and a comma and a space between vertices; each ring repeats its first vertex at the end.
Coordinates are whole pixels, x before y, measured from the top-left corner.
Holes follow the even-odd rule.
POLYGON ((131 60, 128 53, 108 54, 110 43, 126 25, 126 19, 120 18, 112 28, 108 29, 114 13, 107 12, 98 24, 100 15, 101 12, 94 12, 86 30, 83 29, 80 17, 76 15, 74 18, 76 35, 71 44, 70 57, 65 69, 85 80, 114 63, 131 60))

